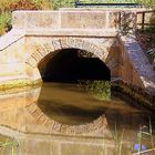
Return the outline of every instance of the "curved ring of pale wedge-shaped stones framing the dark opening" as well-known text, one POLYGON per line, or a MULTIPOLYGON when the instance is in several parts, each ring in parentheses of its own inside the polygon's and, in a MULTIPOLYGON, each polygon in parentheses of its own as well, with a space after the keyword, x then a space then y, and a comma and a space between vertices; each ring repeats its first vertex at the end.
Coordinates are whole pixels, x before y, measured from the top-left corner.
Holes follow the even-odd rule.
POLYGON ((79 49, 92 53, 94 56, 99 58, 111 71, 111 66, 105 63, 108 51, 103 45, 96 45, 94 42, 80 38, 52 38, 50 43, 34 43, 33 53, 29 55, 25 63, 29 68, 32 69, 32 72, 29 74, 31 79, 39 80, 41 79, 38 65, 43 61, 48 55, 54 53, 55 51, 64 49, 79 49))

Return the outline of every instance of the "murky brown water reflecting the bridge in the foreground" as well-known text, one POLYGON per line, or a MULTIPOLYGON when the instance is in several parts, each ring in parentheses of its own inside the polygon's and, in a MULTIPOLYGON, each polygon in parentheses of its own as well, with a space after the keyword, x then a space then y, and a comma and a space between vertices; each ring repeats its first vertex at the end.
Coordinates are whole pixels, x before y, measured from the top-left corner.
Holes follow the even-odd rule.
POLYGON ((0 142, 10 143, 0 145, 0 153, 131 155, 138 144, 142 149, 154 147, 154 121, 145 108, 113 94, 111 100, 99 100, 76 84, 10 90, 0 95, 0 142))

